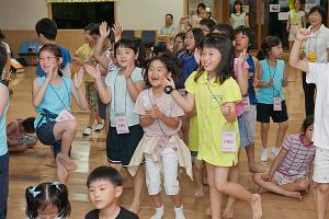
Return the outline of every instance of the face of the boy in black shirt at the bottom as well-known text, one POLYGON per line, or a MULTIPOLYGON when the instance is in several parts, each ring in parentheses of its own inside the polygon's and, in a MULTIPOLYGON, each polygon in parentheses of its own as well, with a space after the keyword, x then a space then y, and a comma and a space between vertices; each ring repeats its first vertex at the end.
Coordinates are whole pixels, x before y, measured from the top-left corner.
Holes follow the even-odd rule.
POLYGON ((114 205, 122 194, 122 186, 114 186, 109 180, 97 180, 89 184, 89 198, 97 209, 114 205))

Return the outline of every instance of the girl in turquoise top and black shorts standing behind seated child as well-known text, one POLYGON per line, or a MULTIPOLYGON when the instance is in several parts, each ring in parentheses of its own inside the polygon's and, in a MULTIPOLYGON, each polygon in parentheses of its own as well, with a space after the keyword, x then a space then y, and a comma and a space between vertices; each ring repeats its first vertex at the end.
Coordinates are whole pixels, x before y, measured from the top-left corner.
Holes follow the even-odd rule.
POLYGON ((268 134, 270 117, 279 123, 275 147, 272 154, 277 155, 285 131, 288 127, 288 116, 284 101, 283 88, 287 85, 287 72, 282 57, 281 39, 276 36, 266 36, 258 54, 261 70, 261 81, 258 90, 257 122, 261 123, 261 141, 263 151, 260 160, 268 161, 268 134))

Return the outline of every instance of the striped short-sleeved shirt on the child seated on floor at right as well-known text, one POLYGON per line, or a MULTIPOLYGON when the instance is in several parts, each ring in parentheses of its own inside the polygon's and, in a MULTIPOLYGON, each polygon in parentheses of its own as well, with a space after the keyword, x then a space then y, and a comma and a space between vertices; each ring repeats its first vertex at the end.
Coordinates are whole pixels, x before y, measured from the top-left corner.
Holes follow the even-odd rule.
POLYGON ((316 153, 316 147, 304 145, 303 135, 295 134, 288 136, 282 143, 282 148, 287 150, 277 171, 284 175, 306 175, 309 171, 311 160, 316 153))

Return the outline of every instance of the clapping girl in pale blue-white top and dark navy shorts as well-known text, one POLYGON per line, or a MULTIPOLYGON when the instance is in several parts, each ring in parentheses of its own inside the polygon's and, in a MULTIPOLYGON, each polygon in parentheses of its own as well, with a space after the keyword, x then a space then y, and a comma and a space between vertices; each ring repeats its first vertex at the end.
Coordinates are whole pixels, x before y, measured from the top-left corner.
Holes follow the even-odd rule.
MULTIPOLYGON (((99 67, 86 66, 87 72, 95 79, 100 99, 110 104, 110 131, 106 138, 107 160, 112 166, 120 170, 127 168, 135 149, 143 137, 138 115, 134 114, 134 106, 140 91, 145 90, 145 82, 140 68, 134 62, 138 57, 137 45, 134 39, 122 38, 114 46, 117 70, 107 73, 104 87, 99 67)), ((140 166, 133 178, 134 200, 131 211, 140 210, 140 197, 145 183, 145 173, 140 166)))

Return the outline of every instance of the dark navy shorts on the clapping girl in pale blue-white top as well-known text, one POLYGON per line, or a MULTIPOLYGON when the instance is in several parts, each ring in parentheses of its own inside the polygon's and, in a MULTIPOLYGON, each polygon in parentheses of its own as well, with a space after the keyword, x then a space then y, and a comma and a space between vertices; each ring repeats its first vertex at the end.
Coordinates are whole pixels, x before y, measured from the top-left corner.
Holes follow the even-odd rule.
POLYGON ((117 134, 115 127, 111 127, 106 138, 106 154, 110 163, 121 163, 128 166, 133 154, 143 138, 141 126, 129 126, 128 134, 117 134))

